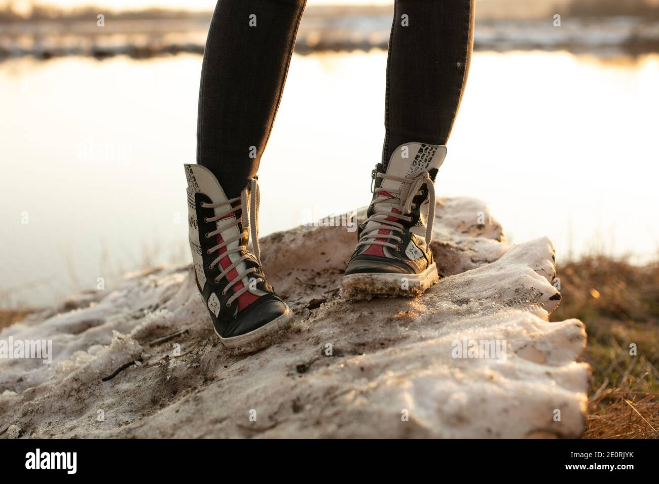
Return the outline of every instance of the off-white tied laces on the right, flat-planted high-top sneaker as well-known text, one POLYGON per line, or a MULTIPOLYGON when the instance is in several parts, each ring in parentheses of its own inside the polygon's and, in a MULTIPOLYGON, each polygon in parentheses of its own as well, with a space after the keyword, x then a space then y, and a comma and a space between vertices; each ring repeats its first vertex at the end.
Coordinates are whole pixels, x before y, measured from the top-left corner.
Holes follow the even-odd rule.
POLYGON ((430 242, 432 242, 432 224, 435 220, 435 186, 432 182, 432 179, 430 178, 430 174, 425 170, 420 170, 413 173, 407 178, 387 175, 386 173, 381 173, 381 172, 378 172, 376 176, 380 178, 385 178, 387 180, 394 180, 397 182, 401 182, 402 186, 398 192, 395 192, 393 190, 385 190, 384 188, 376 188, 375 190, 376 197, 374 197, 370 205, 368 205, 368 209, 370 209, 372 205, 376 205, 377 203, 391 203, 392 207, 391 209, 387 209, 387 210, 375 209, 373 215, 371 215, 370 217, 368 217, 368 219, 366 219, 366 226, 368 225, 369 222, 376 223, 376 225, 370 227, 368 229, 368 232, 364 231, 357 246, 377 245, 377 246, 390 247, 392 249, 397 248, 395 244, 391 242, 387 242, 387 240, 396 240, 397 242, 403 242, 403 240, 399 236, 397 236, 394 232, 399 232, 403 234, 405 233, 405 229, 403 228, 403 224, 397 221, 391 221, 386 219, 387 217, 393 217, 396 220, 402 220, 406 222, 411 221, 412 217, 409 217, 409 215, 405 215, 405 213, 410 213, 411 209, 416 208, 416 203, 413 203, 412 200, 413 198, 415 198, 416 194, 418 194, 419 190, 421 189, 421 186, 424 183, 428 187, 428 202, 430 203, 430 207, 428 207, 428 220, 426 221, 426 244, 430 245, 430 242), (399 202, 394 203, 395 201, 394 199, 378 200, 379 198, 378 194, 380 194, 380 192, 386 192, 387 194, 390 194, 392 196, 397 196, 399 202), (393 208, 398 209, 401 213, 395 213, 393 211, 393 208), (378 233, 380 230, 389 230, 389 233, 380 234, 378 233), (385 239, 385 240, 377 240, 377 239, 385 239))

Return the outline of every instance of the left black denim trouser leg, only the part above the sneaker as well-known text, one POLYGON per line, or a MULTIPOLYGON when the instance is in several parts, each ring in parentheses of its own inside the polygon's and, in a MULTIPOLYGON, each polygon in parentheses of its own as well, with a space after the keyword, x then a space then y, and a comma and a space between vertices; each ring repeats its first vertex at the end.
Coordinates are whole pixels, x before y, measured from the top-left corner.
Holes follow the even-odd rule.
POLYGON ((256 175, 306 0, 219 0, 199 92, 197 163, 227 197, 256 175))

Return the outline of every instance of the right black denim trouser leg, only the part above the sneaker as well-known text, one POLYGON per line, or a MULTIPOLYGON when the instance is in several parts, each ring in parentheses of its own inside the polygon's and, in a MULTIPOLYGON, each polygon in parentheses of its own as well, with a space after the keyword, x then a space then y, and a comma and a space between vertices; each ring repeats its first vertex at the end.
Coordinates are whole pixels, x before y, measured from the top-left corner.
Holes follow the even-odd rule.
POLYGON ((473 46, 474 0, 396 0, 382 163, 401 144, 446 144, 473 46))

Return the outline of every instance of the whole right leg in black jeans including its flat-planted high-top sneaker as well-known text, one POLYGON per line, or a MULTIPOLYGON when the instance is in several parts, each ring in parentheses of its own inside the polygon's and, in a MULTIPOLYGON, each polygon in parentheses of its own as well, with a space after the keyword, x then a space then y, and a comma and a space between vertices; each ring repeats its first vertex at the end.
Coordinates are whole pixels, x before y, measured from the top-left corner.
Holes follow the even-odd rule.
POLYGON ((387 59, 386 138, 345 296, 415 296, 438 281, 430 250, 434 180, 460 105, 474 0, 396 0, 387 59))

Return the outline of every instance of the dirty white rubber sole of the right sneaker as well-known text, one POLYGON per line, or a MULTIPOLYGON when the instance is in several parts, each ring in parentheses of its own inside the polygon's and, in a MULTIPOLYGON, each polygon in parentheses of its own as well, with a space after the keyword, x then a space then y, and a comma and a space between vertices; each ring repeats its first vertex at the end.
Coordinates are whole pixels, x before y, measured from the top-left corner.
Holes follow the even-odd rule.
POLYGON ((437 266, 433 262, 419 274, 364 273, 343 277, 341 293, 347 298, 372 296, 420 296, 439 281, 437 266))

